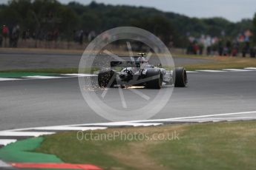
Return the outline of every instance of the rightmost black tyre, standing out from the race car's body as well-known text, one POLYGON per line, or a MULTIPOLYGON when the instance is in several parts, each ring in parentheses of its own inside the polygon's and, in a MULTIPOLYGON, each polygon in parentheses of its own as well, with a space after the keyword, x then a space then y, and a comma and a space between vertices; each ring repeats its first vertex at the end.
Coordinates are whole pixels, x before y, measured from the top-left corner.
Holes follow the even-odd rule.
POLYGON ((175 87, 184 87, 188 83, 187 72, 183 67, 174 69, 173 78, 175 87))

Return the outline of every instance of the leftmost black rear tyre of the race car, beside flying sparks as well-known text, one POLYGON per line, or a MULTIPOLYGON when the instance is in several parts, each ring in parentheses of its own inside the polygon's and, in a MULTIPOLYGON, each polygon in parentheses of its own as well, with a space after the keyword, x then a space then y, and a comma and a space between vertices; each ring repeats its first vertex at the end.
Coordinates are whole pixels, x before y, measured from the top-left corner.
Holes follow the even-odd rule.
POLYGON ((98 75, 98 84, 100 87, 114 87, 116 84, 116 72, 112 69, 100 70, 98 75))

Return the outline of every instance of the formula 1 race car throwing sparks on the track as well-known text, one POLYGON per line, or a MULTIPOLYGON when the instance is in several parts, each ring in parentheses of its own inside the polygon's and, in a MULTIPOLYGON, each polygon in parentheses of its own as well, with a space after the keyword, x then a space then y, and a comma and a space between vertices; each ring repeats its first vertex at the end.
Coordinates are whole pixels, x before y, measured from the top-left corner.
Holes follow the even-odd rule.
POLYGON ((155 67, 145 61, 144 53, 133 61, 111 61, 111 67, 101 69, 98 75, 100 87, 114 86, 145 86, 148 89, 161 89, 163 83, 174 84, 175 87, 184 87, 188 83, 186 69, 183 67, 168 71, 155 67), (116 71, 119 68, 121 71, 116 71))

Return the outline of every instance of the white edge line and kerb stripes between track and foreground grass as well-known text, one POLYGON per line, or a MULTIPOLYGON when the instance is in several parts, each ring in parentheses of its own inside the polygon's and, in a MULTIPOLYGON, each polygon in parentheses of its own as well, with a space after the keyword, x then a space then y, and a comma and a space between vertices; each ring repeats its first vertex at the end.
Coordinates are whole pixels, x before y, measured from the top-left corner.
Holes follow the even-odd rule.
MULTIPOLYGON (((163 123, 168 122, 219 122, 223 120, 255 120, 256 115, 248 115, 241 117, 223 117, 221 116, 230 116, 230 115, 246 115, 246 114, 256 114, 256 111, 252 112, 232 112, 224 114, 214 114, 214 115, 199 115, 199 116, 189 116, 189 117, 180 117, 180 118, 168 118, 168 119, 156 119, 156 120, 134 120, 134 121, 122 121, 122 122, 109 122, 109 123, 85 123, 85 124, 75 124, 75 125, 65 125, 65 126, 46 126, 46 127, 36 127, 36 128, 26 128, 26 129, 11 129, 6 131, 1 131, 0 136, 34 136, 38 137, 40 135, 51 135, 55 132, 47 132, 47 130, 94 130, 94 129, 106 129, 109 126, 159 126, 163 123), (217 117, 217 118, 214 118, 217 117), (157 122, 157 123, 156 123, 157 122), (79 127, 82 126, 82 127, 79 127), (92 127, 93 126, 93 127, 92 127), (46 132, 22 132, 22 131, 32 131, 32 130, 45 130, 46 132)), ((15 142, 15 139, 2 139, 0 140, 0 145, 7 145, 8 143, 15 142)))

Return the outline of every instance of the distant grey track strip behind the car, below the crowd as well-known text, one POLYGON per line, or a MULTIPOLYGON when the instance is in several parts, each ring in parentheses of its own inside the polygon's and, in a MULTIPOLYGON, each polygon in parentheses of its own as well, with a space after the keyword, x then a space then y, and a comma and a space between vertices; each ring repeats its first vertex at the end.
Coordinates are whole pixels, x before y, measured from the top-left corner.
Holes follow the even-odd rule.
MULTIPOLYGON (((0 70, 9 69, 43 69, 43 68, 77 68, 82 57, 81 53, 63 53, 63 52, 33 52, 24 50, 1 50, 0 49, 0 70)), ((109 62, 109 55, 99 55, 96 63, 104 64, 109 62), (104 60, 105 59, 105 60, 104 60)), ((130 59, 130 58, 128 58, 130 59)), ((199 64, 212 62, 209 59, 194 58, 176 58, 176 65, 199 64)), ((151 58, 152 64, 159 64, 159 60, 151 58)))

